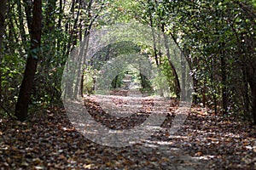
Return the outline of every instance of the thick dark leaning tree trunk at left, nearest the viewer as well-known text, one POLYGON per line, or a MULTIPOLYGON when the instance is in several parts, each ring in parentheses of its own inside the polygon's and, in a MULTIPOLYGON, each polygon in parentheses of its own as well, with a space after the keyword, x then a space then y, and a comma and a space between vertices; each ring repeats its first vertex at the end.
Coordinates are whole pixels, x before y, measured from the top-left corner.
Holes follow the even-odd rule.
POLYGON ((28 103, 32 92, 32 83, 38 65, 38 53, 41 42, 41 21, 42 20, 42 2, 41 0, 33 1, 32 8, 32 30, 31 30, 31 51, 26 60, 26 69, 20 86, 20 94, 15 106, 15 116, 20 121, 25 121, 28 111, 28 103))

